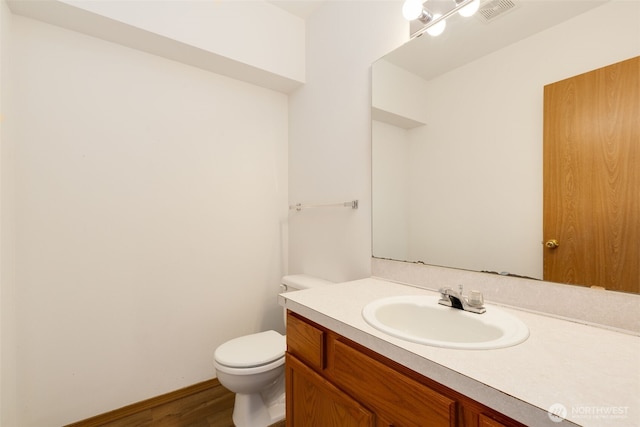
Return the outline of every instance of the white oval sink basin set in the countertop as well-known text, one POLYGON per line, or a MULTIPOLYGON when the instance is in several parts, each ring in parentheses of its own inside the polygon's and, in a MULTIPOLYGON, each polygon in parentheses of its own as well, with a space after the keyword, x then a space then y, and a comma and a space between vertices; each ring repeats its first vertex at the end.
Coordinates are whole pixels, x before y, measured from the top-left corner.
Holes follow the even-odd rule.
POLYGON ((437 296, 407 295, 367 304, 362 317, 374 328, 407 341, 435 347, 488 350, 520 344, 529 328, 499 308, 483 314, 438 304, 437 296))

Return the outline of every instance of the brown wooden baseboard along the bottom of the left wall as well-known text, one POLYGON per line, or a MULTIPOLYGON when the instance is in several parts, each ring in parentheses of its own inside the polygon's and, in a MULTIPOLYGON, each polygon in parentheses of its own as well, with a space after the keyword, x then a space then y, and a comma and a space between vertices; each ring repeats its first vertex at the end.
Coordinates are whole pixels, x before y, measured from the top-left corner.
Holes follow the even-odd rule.
POLYGON ((96 415, 95 417, 87 418, 86 420, 77 421, 72 424, 68 424, 65 427, 99 427, 108 423, 118 421, 119 419, 135 415, 140 412, 148 411, 158 406, 166 405, 168 403, 184 399, 191 395, 201 393, 208 389, 222 387, 217 378, 213 378, 207 381, 203 381, 198 384, 191 385, 189 387, 181 388, 163 394, 160 396, 152 397, 151 399, 143 400, 141 402, 133 403, 131 405, 124 406, 113 411, 105 412, 104 414, 96 415))

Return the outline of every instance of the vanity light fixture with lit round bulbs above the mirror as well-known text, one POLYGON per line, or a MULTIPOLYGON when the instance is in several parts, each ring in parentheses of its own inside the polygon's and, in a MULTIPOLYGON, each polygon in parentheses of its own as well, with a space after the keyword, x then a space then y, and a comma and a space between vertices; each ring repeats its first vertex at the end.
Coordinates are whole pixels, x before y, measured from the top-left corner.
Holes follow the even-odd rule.
POLYGON ((402 5, 402 15, 407 21, 419 21, 423 26, 417 31, 411 29, 411 37, 417 37, 427 32, 435 37, 442 34, 447 25, 447 18, 459 12, 462 16, 473 15, 480 7, 480 0, 454 0, 455 7, 447 13, 433 14, 427 8, 422 0, 405 0, 402 5))

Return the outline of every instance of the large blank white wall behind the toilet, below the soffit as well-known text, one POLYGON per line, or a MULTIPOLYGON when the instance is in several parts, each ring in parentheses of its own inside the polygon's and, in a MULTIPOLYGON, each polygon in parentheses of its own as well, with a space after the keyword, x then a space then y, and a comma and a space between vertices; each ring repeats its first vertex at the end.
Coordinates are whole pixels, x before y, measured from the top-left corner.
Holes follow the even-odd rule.
POLYGON ((12 21, 17 425, 211 378, 217 345, 282 330, 286 96, 12 21))

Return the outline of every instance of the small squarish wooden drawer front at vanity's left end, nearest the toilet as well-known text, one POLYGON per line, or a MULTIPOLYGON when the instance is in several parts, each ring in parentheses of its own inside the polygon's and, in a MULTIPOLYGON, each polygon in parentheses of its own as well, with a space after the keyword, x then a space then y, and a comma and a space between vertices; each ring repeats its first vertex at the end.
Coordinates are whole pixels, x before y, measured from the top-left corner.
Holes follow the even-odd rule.
POLYGON ((287 314, 287 351, 318 371, 324 368, 324 341, 324 331, 287 314))

